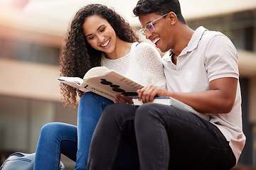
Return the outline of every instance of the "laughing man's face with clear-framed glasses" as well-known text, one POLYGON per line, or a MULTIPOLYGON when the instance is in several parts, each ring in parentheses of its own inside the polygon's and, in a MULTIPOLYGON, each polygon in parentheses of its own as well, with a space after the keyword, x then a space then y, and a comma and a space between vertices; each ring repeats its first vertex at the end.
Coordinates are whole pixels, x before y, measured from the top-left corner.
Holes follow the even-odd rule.
POLYGON ((166 27, 168 26, 168 18, 163 17, 160 18, 161 15, 158 15, 156 13, 147 13, 142 16, 139 16, 139 21, 142 25, 142 28, 145 28, 147 24, 151 24, 154 27, 154 30, 149 33, 146 31, 146 39, 151 40, 157 48, 161 50, 161 52, 166 52, 170 50, 169 48, 169 41, 170 41, 170 35, 166 27), (157 21, 157 18, 160 18, 157 21), (154 21, 153 23, 151 23, 154 21))

